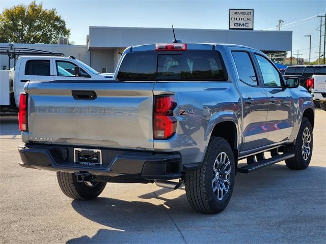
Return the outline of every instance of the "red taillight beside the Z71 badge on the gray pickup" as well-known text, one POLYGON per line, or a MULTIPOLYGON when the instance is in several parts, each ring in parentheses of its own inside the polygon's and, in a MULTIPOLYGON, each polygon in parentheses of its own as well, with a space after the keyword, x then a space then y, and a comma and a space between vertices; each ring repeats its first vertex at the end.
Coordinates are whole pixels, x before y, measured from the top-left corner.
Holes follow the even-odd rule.
POLYGON ((177 106, 173 95, 154 97, 153 136, 154 139, 169 139, 177 128, 177 120, 173 109, 177 106))

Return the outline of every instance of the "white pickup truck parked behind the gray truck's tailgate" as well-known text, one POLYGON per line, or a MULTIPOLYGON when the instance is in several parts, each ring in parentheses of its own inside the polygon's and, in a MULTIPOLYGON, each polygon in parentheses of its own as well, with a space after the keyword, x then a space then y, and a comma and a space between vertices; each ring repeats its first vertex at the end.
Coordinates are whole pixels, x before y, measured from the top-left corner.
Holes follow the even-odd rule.
POLYGON ((29 80, 112 80, 113 75, 100 74, 72 56, 20 56, 14 70, 0 71, 0 111, 17 110, 19 95, 29 80))

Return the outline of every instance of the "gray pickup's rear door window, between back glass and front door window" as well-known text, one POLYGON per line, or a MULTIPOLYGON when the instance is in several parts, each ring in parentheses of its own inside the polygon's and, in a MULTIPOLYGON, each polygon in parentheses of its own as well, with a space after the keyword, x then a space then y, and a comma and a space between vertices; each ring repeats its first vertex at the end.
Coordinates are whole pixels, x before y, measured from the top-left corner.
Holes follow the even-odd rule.
POLYGON ((249 53, 232 51, 232 56, 240 81, 248 85, 257 85, 257 77, 249 53))

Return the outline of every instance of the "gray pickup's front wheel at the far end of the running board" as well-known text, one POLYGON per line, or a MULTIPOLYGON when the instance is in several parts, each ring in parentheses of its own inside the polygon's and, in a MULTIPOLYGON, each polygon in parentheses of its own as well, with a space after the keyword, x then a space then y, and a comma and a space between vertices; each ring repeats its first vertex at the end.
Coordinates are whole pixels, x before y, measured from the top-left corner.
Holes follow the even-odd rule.
POLYGON ((284 153, 294 154, 291 159, 285 160, 289 169, 301 170, 309 166, 312 156, 312 127, 308 118, 303 117, 295 144, 284 146, 284 153), (308 143, 309 141, 309 143, 308 143))

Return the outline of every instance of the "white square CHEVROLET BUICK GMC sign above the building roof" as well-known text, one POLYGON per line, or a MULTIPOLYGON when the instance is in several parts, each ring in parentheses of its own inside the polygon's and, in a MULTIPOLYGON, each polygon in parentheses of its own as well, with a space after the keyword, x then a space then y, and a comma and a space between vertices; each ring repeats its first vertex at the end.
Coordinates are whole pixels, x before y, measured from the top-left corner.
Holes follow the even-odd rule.
POLYGON ((254 29, 254 10, 230 9, 229 29, 254 29))

